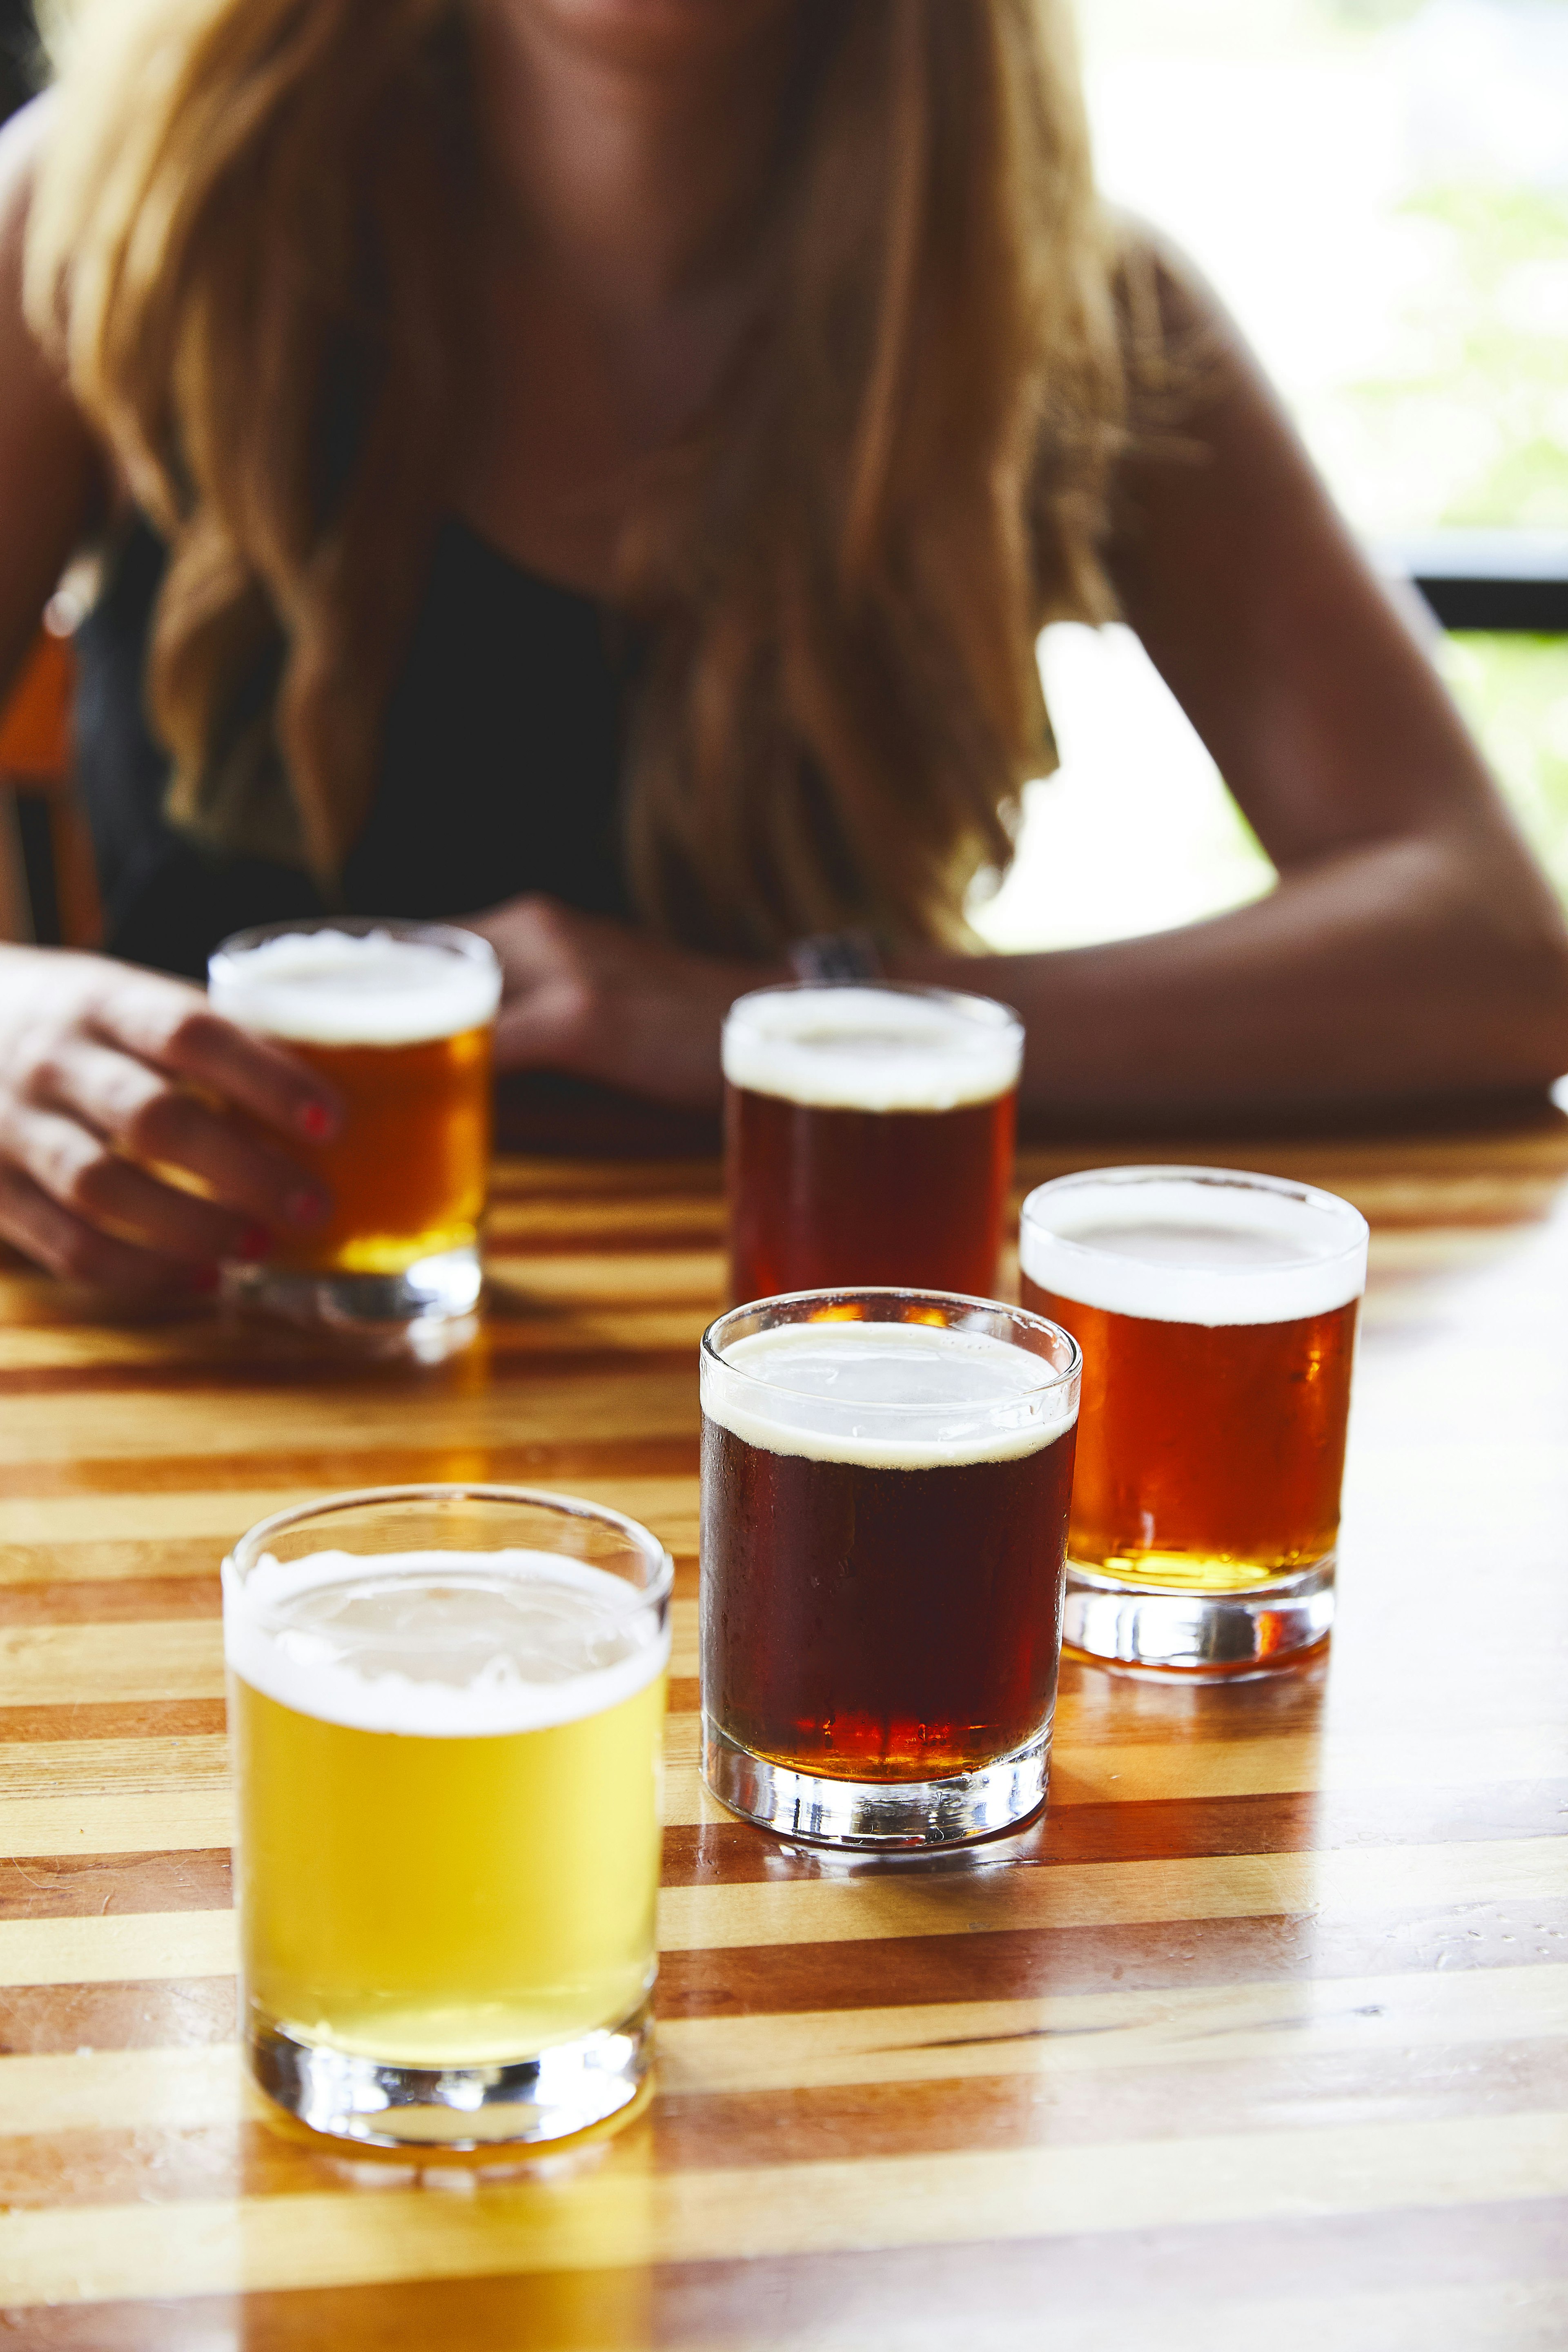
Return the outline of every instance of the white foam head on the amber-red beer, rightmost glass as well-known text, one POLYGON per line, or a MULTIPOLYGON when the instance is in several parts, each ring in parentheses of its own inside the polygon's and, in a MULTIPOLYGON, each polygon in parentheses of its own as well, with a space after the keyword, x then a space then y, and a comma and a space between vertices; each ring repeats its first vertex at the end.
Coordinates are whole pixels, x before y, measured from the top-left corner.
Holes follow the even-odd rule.
POLYGON ((1314 1185, 1241 1169, 1095 1169, 1023 1204, 1041 1291, 1150 1322, 1300 1322, 1366 1289, 1366 1218, 1314 1185))

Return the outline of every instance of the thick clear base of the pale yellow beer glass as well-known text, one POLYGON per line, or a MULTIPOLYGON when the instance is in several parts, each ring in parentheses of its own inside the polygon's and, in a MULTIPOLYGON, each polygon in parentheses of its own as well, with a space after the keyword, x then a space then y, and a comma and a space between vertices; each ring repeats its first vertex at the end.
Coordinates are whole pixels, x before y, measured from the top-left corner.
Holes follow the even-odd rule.
POLYGON ((310 2131, 362 2147, 505 2147, 564 2140, 630 2107, 654 2060, 654 2004, 538 2058, 418 2067, 252 2025, 249 2067, 310 2131))

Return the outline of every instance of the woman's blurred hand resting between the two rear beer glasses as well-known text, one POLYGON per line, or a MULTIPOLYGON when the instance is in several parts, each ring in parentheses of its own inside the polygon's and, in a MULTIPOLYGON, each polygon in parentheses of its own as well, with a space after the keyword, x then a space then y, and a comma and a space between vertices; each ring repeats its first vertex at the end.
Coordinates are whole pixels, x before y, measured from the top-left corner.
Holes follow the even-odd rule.
POLYGON ((668 948, 555 898, 510 898, 468 922, 501 957, 498 1070, 569 1070, 658 1103, 710 1110, 719 1030, 748 988, 783 969, 668 948))

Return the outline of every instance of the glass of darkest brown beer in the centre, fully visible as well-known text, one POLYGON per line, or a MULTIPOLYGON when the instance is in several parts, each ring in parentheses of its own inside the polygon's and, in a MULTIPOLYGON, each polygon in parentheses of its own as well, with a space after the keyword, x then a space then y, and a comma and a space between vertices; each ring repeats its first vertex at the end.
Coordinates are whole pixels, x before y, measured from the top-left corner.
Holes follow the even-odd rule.
POLYGON ((806 1291, 703 1336, 703 1778, 940 1846, 1046 1795, 1079 1350, 1020 1308, 806 1291))

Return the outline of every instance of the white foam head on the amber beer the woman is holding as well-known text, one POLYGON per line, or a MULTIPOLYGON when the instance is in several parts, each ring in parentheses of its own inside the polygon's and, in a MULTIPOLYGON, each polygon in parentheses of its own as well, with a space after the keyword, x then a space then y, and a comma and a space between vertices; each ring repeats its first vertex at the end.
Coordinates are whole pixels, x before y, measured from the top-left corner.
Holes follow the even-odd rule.
POLYGON ((216 1011, 296 1044, 428 1044, 484 1028, 501 1004, 501 964, 473 931, 275 931, 219 948, 207 967, 216 1011))

